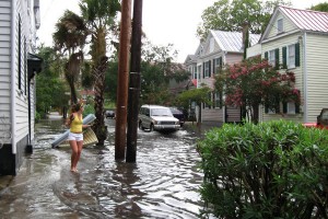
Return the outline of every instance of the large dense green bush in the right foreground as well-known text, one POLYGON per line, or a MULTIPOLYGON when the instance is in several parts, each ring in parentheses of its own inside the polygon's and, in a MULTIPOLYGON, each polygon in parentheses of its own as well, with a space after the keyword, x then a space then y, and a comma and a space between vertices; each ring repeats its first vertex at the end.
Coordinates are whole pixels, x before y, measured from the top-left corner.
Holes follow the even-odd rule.
POLYGON ((202 215, 327 218, 327 130, 292 122, 224 125, 198 142, 202 215))

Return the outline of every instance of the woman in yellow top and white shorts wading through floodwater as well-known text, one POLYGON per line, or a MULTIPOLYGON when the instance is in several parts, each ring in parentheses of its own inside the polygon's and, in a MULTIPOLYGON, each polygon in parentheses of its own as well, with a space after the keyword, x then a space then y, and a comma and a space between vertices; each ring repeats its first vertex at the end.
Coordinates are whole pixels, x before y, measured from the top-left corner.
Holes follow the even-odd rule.
POLYGON ((72 113, 67 120, 67 126, 70 127, 69 143, 72 149, 71 155, 71 171, 78 172, 77 165, 80 160, 80 155, 83 147, 83 128, 91 125, 83 125, 83 103, 78 103, 72 106, 72 113))

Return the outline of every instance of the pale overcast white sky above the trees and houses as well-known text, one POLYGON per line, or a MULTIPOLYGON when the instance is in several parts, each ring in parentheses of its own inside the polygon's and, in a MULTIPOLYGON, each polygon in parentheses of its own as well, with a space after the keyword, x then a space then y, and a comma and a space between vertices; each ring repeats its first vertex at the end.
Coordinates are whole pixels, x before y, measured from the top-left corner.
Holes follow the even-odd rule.
MULTIPOLYGON (((80 13, 79 0, 42 0, 38 44, 52 45, 55 23, 65 10, 80 13)), ((133 1, 131 1, 133 4, 133 1)), ((173 44, 178 51, 176 61, 184 62, 189 54, 195 54, 199 38, 197 26, 201 23, 204 9, 215 0, 143 0, 142 28, 149 41, 156 46, 173 44)), ((293 8, 308 9, 328 0, 291 0, 293 8)), ((133 9, 133 7, 132 7, 133 9)))

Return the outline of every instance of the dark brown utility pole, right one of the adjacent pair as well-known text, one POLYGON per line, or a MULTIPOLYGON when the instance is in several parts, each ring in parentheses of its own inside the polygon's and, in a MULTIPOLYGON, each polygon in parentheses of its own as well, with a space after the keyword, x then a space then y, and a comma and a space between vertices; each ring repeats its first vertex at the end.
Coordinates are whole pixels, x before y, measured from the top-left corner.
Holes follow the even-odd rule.
POLYGON ((142 0, 133 1, 131 69, 128 101, 128 136, 126 162, 136 162, 140 96, 140 61, 142 33, 142 0))

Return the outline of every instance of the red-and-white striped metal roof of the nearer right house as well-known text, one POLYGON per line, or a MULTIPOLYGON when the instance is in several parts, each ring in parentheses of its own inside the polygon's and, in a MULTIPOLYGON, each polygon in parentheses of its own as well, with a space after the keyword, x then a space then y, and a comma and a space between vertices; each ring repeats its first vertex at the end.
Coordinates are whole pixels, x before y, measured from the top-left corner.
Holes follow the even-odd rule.
POLYGON ((328 33, 328 13, 278 7, 300 30, 328 33))

